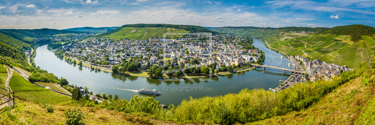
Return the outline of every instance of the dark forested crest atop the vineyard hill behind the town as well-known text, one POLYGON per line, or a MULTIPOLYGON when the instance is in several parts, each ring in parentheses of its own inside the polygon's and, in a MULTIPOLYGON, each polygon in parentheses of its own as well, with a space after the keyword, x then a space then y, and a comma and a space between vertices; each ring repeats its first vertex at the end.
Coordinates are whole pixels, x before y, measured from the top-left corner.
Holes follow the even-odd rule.
POLYGON ((216 31, 208 30, 207 28, 194 25, 174 25, 174 24, 126 24, 122 27, 169 27, 175 29, 183 29, 190 33, 219 33, 216 31))

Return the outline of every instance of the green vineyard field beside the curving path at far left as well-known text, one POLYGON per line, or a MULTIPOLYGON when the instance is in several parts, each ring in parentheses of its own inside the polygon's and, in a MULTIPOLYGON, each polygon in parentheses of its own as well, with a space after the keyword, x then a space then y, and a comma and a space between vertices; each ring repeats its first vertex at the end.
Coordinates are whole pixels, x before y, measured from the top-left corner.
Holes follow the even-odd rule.
POLYGON ((34 85, 17 72, 14 72, 12 78, 10 78, 9 87, 15 91, 15 96, 20 96, 36 103, 47 101, 50 104, 59 104, 71 99, 68 96, 34 85))

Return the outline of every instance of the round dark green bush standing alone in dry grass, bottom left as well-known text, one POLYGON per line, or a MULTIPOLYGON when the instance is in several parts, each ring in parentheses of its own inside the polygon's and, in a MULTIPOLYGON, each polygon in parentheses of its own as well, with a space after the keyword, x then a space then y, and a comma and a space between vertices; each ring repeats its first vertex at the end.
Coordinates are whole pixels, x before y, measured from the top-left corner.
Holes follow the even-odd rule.
POLYGON ((66 125, 85 125, 83 118, 86 114, 78 109, 68 109, 64 115, 66 125))

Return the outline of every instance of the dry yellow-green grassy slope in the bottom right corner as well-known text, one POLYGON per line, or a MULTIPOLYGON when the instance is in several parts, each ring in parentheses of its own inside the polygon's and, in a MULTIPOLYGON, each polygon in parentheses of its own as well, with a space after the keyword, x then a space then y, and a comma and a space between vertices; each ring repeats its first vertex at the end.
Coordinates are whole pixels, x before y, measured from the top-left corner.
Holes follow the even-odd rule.
MULTIPOLYGON (((374 78, 374 76, 372 77, 374 78)), ((311 107, 274 116, 251 125, 298 125, 298 124, 358 124, 374 120, 373 86, 362 85, 361 78, 343 84, 324 96, 311 107)), ((372 121, 374 123, 374 121, 372 121)))

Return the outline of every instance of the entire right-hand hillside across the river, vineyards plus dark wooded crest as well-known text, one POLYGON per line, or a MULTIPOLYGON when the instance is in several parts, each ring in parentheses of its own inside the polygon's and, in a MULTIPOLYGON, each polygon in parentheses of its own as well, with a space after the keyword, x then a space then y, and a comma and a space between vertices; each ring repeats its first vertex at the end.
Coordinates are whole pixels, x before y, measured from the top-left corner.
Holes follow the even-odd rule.
POLYGON ((270 44, 269 47, 291 56, 300 55, 307 59, 319 59, 328 63, 356 68, 360 63, 368 62, 371 51, 375 50, 373 29, 374 27, 369 26, 349 25, 333 28, 220 27, 210 30, 243 36, 264 37, 263 40, 270 44), (347 30, 347 28, 357 29, 361 38, 356 38, 357 42, 353 41, 353 36, 350 35, 350 30, 347 30), (315 33, 291 33, 291 31, 315 33))

